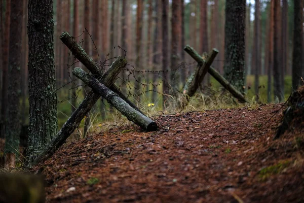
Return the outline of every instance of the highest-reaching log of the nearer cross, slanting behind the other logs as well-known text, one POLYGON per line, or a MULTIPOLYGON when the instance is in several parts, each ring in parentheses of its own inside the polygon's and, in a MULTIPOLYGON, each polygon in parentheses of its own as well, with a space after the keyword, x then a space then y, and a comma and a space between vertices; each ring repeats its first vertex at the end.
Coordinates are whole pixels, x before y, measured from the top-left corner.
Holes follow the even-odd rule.
MULTIPOLYGON (((87 69, 94 75, 95 78, 100 78, 103 75, 103 71, 99 69, 98 65, 94 60, 86 53, 86 51, 74 40, 73 37, 69 35, 68 32, 62 32, 60 35, 60 40, 65 44, 72 54, 78 58, 82 64, 84 64, 87 69)), ((119 88, 113 84, 109 87, 113 92, 117 93, 122 99, 124 99, 131 107, 142 113, 136 105, 134 105, 125 94, 123 94, 119 88)), ((143 113, 142 113, 143 114, 143 113)))

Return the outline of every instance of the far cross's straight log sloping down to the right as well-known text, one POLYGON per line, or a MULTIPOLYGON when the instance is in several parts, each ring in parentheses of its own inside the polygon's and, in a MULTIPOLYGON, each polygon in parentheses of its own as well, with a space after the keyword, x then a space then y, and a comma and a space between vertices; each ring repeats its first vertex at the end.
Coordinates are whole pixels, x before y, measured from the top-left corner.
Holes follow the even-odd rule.
MULTIPOLYGON (((185 46, 184 50, 194 58, 199 64, 204 64, 206 61, 189 45, 185 46)), ((238 91, 230 82, 228 82, 224 77, 222 77, 215 69, 210 66, 208 73, 215 78, 226 90, 228 90, 234 97, 236 97, 241 103, 247 103, 244 95, 238 91)))

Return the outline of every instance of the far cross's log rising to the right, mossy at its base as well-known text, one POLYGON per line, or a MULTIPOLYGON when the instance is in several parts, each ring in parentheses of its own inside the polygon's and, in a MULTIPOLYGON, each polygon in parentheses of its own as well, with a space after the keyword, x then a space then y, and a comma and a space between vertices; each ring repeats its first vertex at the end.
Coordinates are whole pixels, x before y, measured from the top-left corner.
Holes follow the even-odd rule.
POLYGON ((182 91, 182 93, 186 94, 187 96, 185 97, 186 99, 180 103, 181 107, 186 106, 187 103, 189 102, 189 98, 195 94, 217 54, 218 54, 218 50, 213 49, 210 53, 210 56, 206 59, 206 62, 205 63, 199 62, 198 68, 187 79, 187 82, 183 87, 183 91, 182 91))

